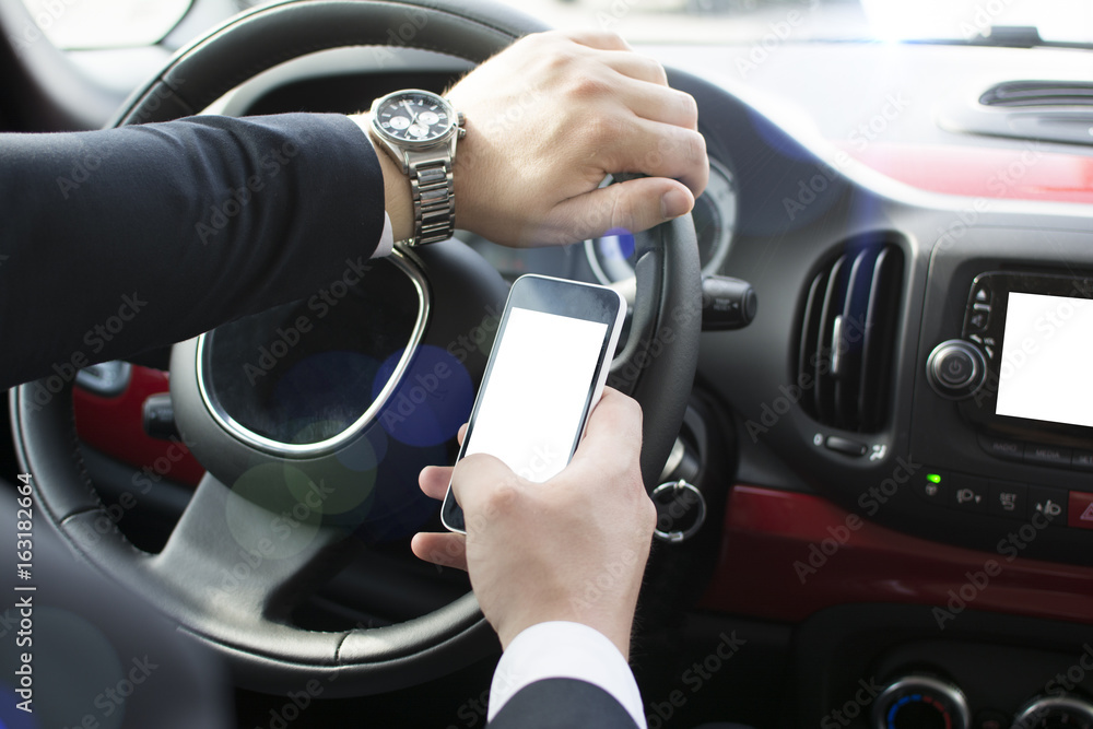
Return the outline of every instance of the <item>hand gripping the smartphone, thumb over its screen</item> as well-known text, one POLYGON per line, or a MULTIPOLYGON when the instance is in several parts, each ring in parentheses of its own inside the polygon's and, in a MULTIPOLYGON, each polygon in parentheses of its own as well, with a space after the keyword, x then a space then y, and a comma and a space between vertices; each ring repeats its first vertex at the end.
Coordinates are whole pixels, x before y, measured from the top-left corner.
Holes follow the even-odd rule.
POLYGON ((545 483, 485 455, 468 456, 454 473, 426 468, 420 481, 430 496, 443 498, 451 481, 467 537, 419 533, 413 552, 470 572, 504 647, 526 627, 565 620, 595 627, 628 656, 657 520, 640 450, 640 408, 607 388, 573 461, 545 483))

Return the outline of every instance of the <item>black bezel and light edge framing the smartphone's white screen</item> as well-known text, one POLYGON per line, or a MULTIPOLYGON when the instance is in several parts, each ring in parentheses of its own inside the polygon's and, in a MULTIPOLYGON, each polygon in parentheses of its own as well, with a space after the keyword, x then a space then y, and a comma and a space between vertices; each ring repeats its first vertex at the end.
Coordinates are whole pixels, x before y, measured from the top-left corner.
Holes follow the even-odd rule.
MULTIPOLYGON (((626 316, 626 303, 622 295, 613 289, 599 284, 571 281, 568 279, 555 279, 537 273, 521 275, 513 283, 508 301, 505 303, 505 310, 497 326, 497 334, 490 351, 485 374, 482 376, 482 385, 479 387, 478 395, 474 398, 474 405, 471 409, 471 415, 468 420, 467 435, 459 448, 456 462, 462 459, 471 442, 474 423, 478 419, 479 405, 482 402, 482 393, 489 387, 490 377, 493 374, 494 358, 496 357, 501 342, 504 340, 508 328, 509 314, 514 308, 530 309, 532 311, 542 311, 607 325, 603 339, 600 342, 600 351, 597 354, 596 368, 591 381, 588 383, 588 392, 580 416, 580 427, 574 437, 568 458, 573 458, 573 454, 576 451, 577 445, 584 435, 588 415, 603 391, 611 357, 614 354, 622 324, 626 316)), ((444 503, 440 505, 440 522, 449 531, 466 533, 463 512, 459 507, 459 504, 456 503, 450 485, 444 496, 444 503)))

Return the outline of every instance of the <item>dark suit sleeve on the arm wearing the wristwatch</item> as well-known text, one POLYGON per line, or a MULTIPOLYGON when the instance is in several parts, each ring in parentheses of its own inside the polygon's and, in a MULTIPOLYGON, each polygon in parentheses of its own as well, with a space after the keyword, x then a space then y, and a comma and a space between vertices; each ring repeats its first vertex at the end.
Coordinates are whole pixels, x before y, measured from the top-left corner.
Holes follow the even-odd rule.
POLYGON ((383 226, 344 116, 0 134, 0 388, 310 295, 383 226))

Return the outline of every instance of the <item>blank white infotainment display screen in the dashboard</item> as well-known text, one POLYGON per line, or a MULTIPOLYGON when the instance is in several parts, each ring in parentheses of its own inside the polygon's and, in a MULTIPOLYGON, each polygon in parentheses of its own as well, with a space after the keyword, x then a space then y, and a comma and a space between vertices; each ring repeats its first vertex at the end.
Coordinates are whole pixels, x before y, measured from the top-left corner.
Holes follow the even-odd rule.
POLYGON ((1093 299, 1009 292, 995 410, 1093 426, 1093 299))

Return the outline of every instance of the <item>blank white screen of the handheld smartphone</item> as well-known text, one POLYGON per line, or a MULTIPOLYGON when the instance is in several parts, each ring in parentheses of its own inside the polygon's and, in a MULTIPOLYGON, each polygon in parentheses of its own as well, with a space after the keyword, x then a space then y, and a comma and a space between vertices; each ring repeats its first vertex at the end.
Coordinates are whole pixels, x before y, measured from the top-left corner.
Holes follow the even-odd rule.
POLYGON ((466 455, 490 454, 541 483, 569 461, 606 324, 513 308, 466 455))

